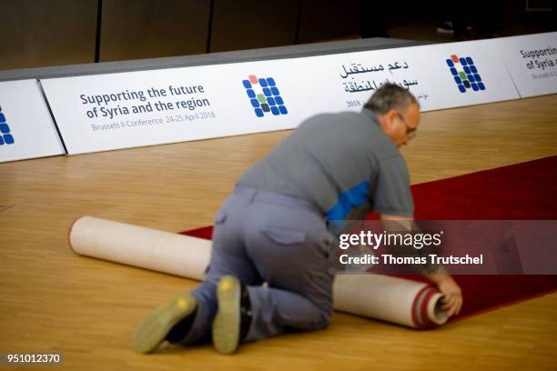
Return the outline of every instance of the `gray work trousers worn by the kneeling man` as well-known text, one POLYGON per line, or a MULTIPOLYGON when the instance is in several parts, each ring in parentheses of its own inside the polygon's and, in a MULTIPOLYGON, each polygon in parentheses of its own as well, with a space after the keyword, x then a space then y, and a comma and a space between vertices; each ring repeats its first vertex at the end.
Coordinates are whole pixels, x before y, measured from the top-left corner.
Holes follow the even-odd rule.
POLYGON ((333 282, 328 244, 325 219, 315 206, 237 186, 215 218, 208 271, 192 292, 197 314, 180 343, 210 336, 217 312, 216 287, 225 275, 238 277, 248 288, 253 317, 245 342, 288 329, 328 326, 333 282))

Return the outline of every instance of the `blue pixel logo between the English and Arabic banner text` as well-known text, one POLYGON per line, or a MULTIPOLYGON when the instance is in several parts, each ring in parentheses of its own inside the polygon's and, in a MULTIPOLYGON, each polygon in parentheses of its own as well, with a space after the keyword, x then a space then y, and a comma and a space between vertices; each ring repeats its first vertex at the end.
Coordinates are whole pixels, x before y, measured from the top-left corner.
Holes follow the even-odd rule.
POLYGON ((249 75, 248 80, 243 80, 242 84, 246 88, 253 111, 258 117, 263 117, 268 113, 272 115, 289 114, 274 78, 258 78, 256 75, 249 75))

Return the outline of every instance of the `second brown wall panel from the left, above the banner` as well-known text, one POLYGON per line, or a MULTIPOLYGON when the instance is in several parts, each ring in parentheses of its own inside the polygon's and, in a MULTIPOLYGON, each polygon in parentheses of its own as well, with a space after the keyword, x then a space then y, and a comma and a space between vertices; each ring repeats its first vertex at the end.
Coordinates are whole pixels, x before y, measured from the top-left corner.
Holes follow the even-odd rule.
POLYGON ((100 61, 203 54, 210 0, 103 0, 100 61))

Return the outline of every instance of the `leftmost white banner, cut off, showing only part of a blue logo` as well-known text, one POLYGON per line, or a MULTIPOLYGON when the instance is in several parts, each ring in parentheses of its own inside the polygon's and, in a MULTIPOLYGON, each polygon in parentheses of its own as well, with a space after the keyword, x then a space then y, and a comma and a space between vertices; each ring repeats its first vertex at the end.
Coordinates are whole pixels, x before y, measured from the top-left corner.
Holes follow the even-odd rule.
POLYGON ((65 153, 36 80, 0 83, 0 162, 65 153))

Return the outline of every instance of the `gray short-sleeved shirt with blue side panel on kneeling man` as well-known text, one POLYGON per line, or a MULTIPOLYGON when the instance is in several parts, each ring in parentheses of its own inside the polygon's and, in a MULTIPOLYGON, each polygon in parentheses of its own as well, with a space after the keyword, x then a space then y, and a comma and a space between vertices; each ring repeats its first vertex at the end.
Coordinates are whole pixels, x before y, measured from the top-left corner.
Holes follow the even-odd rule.
POLYGON ((238 185, 307 200, 329 220, 414 212, 406 163, 367 109, 310 117, 238 185))

